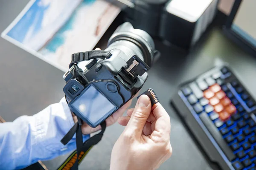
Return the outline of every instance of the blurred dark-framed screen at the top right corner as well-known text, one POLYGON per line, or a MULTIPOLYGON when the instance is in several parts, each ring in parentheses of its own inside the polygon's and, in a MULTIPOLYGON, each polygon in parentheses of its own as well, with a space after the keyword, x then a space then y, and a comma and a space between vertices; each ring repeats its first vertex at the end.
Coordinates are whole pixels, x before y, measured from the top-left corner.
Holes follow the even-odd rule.
POLYGON ((256 1, 235 0, 224 33, 245 51, 256 56, 256 1))

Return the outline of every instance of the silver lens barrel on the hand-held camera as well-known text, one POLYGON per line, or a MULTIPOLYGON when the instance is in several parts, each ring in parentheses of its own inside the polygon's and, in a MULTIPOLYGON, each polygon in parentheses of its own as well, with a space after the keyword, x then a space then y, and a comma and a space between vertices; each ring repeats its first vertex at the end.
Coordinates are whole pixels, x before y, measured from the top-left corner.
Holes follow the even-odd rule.
POLYGON ((131 23, 119 26, 108 41, 108 50, 119 49, 128 57, 137 55, 149 67, 154 62, 155 45, 151 36, 140 29, 134 29, 131 23))

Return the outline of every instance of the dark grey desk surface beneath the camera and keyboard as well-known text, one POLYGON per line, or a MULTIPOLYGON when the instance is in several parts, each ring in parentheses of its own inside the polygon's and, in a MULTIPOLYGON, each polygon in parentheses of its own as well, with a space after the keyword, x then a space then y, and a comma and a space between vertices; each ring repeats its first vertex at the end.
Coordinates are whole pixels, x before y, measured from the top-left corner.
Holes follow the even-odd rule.
MULTIPOLYGON (((0 2, 0 32, 14 20, 28 1, 0 2)), ((106 36, 103 39, 107 39, 106 36)), ((159 41, 156 41, 156 47, 161 51, 162 57, 150 70, 149 79, 143 90, 153 88, 171 117, 173 156, 160 167, 160 170, 209 170, 211 168, 204 155, 169 105, 170 99, 181 82, 207 71, 219 60, 228 62, 237 76, 244 81, 245 87, 256 94, 256 58, 230 42, 217 26, 210 29, 189 55, 159 41)), ((38 113, 48 105, 58 102, 64 95, 62 71, 2 38, 0 53, 0 116, 6 121, 13 121, 21 115, 38 113)), ((80 169, 107 170, 110 165, 111 149, 123 129, 118 124, 108 127, 104 138, 93 147, 80 169)), ((65 158, 66 156, 61 156, 44 163, 52 170, 65 158)))

